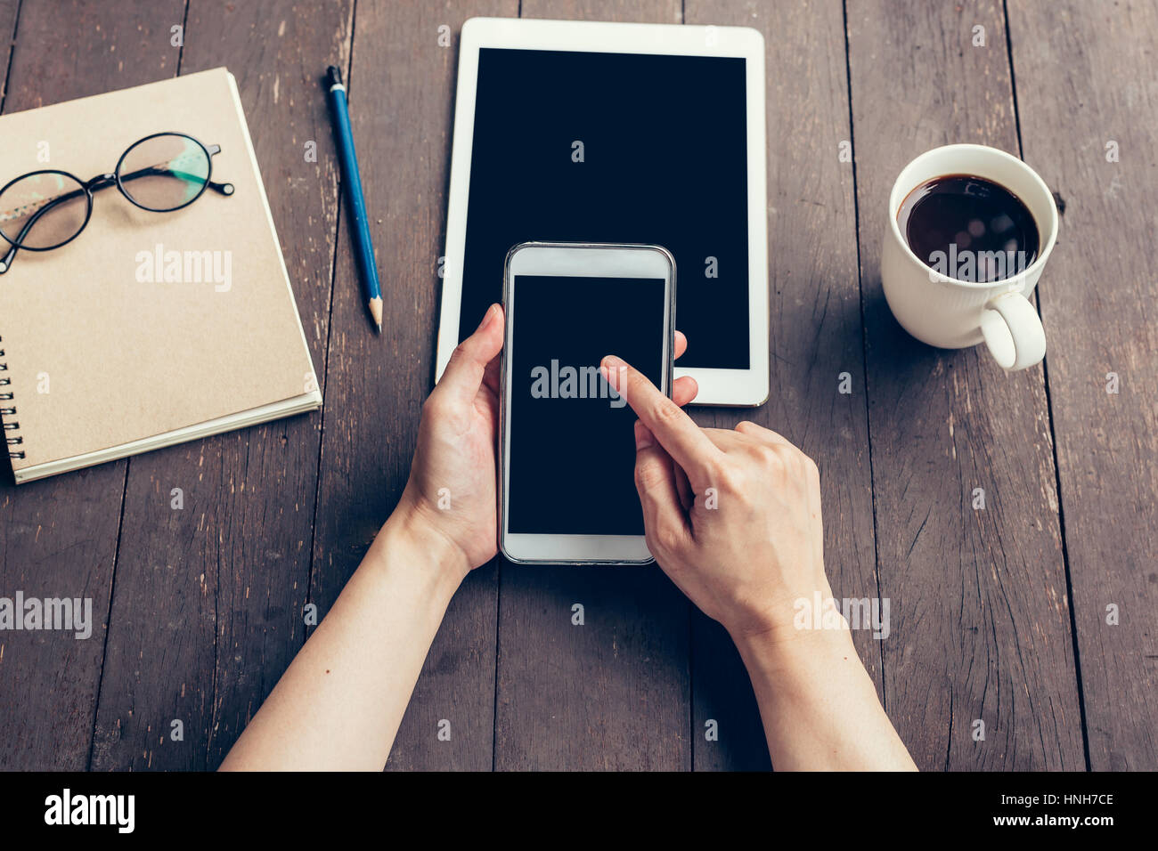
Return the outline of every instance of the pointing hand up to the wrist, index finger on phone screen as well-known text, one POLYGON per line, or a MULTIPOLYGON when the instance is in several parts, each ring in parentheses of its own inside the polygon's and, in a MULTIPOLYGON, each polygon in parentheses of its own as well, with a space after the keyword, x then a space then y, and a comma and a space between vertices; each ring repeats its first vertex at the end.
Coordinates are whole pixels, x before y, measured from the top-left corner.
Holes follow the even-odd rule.
POLYGON ((655 560, 736 643, 792 636, 797 600, 831 597, 816 464, 754 423, 701 428, 614 355, 601 368, 639 417, 636 487, 655 560))

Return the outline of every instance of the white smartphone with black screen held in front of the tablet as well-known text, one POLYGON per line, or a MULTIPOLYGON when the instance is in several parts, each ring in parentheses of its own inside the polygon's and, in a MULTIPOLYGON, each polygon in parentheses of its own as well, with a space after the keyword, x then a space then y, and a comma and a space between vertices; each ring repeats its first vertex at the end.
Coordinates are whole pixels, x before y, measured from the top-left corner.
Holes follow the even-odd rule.
POLYGON ((499 549, 519 564, 646 564, 623 358, 672 395, 675 261, 659 245, 525 242, 506 257, 499 549))

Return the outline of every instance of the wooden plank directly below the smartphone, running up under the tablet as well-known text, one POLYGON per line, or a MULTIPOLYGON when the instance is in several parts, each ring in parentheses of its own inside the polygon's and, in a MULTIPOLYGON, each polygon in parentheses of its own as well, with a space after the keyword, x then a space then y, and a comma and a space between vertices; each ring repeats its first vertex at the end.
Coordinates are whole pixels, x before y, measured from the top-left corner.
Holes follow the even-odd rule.
MULTIPOLYGON (((680 3, 536 1, 521 14, 676 23, 680 3)), ((662 572, 504 562, 500 573, 496 769, 690 768, 690 606, 662 572)))

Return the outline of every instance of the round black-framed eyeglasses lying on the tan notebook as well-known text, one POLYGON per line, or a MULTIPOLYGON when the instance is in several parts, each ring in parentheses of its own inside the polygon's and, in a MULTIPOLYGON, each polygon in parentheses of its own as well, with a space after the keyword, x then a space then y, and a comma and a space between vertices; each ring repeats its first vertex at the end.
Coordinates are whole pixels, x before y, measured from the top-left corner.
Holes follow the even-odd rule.
POLYGON ((116 186, 130 204, 154 213, 188 207, 206 189, 233 195, 232 183, 210 179, 219 153, 220 146, 185 133, 154 133, 133 142, 111 174, 90 181, 56 169, 21 175, 0 189, 0 236, 10 245, 0 274, 20 249, 51 251, 80 236, 93 217, 93 193, 102 189, 116 186))

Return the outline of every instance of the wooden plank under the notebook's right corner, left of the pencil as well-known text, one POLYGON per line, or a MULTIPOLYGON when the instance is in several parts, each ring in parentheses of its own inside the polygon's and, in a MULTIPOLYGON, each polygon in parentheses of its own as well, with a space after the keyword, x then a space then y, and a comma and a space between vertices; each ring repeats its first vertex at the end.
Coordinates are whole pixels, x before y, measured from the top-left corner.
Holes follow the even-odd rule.
MULTIPOLYGON (((320 80, 347 65, 351 14, 192 0, 181 64, 237 79, 318 376, 338 175, 320 80)), ((94 769, 215 769, 301 647, 321 425, 313 413, 130 461, 94 769)))

